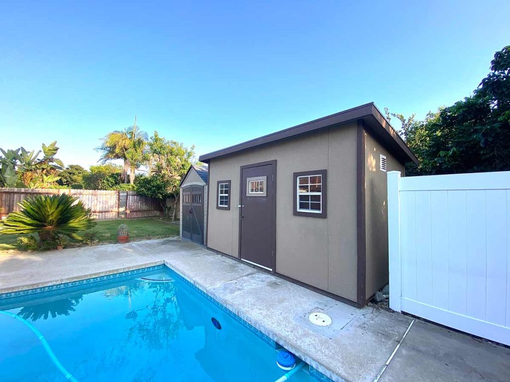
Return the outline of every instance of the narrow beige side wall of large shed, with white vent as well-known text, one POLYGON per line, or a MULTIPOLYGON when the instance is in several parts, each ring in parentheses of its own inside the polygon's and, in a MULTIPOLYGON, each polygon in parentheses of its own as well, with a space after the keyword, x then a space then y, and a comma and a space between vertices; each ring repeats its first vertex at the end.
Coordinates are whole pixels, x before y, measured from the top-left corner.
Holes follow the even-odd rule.
POLYGON ((388 283, 388 188, 387 172, 379 169, 386 156, 387 171, 404 173, 388 150, 365 132, 365 224, 366 224, 366 298, 388 283))

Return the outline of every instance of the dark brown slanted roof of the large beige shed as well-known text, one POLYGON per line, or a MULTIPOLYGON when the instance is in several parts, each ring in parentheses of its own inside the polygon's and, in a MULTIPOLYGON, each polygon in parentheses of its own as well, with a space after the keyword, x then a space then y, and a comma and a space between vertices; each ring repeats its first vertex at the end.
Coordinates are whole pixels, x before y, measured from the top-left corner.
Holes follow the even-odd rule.
POLYGON ((302 123, 294 127, 289 127, 285 130, 276 131, 271 134, 264 135, 263 137, 252 139, 225 149, 200 155, 199 160, 209 163, 209 160, 213 158, 234 154, 239 151, 295 137, 296 135, 310 133, 323 128, 360 119, 365 122, 365 126, 367 126, 367 129, 375 136, 375 138, 378 138, 388 151, 390 151, 399 161, 403 163, 410 161, 418 163, 416 156, 409 147, 407 147, 400 135, 395 131, 390 122, 384 117, 384 115, 382 115, 373 102, 356 106, 340 113, 331 114, 327 117, 302 123))

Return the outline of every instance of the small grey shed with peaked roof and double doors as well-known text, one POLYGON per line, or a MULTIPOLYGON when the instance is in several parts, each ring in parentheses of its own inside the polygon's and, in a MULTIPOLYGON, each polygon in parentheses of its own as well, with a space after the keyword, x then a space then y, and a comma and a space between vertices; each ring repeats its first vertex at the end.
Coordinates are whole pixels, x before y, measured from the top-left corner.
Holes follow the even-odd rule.
POLYGON ((181 237, 199 244, 207 234, 208 169, 206 166, 191 165, 181 180, 181 237))

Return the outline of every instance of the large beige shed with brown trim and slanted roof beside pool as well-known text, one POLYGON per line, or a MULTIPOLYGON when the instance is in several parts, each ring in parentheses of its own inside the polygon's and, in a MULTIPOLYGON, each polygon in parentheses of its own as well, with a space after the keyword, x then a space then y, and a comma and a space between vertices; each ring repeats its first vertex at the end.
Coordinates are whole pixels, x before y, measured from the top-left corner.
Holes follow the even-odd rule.
POLYGON ((357 306, 388 283, 386 175, 417 159, 373 102, 199 159, 211 250, 357 306))

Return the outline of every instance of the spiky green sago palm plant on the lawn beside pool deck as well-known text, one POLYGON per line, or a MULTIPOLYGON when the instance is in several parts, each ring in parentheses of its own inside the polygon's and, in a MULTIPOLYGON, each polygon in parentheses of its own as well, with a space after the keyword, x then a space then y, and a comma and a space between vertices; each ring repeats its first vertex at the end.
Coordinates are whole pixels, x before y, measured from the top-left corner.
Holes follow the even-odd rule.
POLYGON ((80 239, 78 232, 95 226, 90 209, 78 198, 67 194, 37 195, 18 203, 19 212, 11 212, 0 223, 0 234, 37 233, 41 242, 54 240, 57 235, 80 239))

